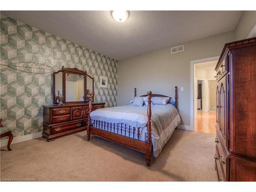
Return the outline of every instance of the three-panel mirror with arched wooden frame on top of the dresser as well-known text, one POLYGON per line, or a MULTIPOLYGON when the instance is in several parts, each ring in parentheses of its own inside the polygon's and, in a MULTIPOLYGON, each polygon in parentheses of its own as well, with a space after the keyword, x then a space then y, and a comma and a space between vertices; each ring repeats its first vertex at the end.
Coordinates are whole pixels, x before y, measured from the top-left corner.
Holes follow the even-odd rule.
POLYGON ((87 90, 94 89, 93 78, 87 72, 64 67, 53 73, 53 87, 54 104, 87 102, 87 90))

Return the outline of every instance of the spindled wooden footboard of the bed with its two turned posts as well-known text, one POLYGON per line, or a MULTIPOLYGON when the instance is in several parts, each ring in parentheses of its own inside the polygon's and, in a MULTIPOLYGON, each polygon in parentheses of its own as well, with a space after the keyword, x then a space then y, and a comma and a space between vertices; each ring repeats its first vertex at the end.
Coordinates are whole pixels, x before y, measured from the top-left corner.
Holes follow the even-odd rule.
POLYGON ((140 141, 140 129, 142 127, 131 127, 125 123, 111 123, 105 121, 93 120, 90 117, 92 112, 92 93, 90 92, 89 98, 89 120, 87 127, 87 140, 90 140, 90 136, 96 135, 120 145, 133 148, 146 155, 147 166, 151 165, 152 154, 152 141, 151 141, 151 91, 147 92, 148 95, 148 107, 147 107, 147 136, 146 141, 140 141), (124 136, 124 135, 125 136, 124 136))

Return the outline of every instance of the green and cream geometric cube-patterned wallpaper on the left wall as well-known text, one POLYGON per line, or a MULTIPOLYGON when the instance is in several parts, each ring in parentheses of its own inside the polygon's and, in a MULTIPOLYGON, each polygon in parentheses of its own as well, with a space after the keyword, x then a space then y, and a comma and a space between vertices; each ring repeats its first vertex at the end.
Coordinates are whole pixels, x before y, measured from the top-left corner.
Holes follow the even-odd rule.
MULTIPOLYGON (((94 101, 117 105, 117 61, 73 42, 0 15, 1 63, 34 61, 58 71, 62 66, 94 77, 94 101), (49 59, 54 58, 54 59, 49 59), (108 88, 100 88, 100 75, 108 88)), ((52 74, 30 74, 1 66, 1 118, 14 137, 42 131, 42 105, 52 103, 52 74)), ((4 138, 3 138, 4 139, 4 138)))

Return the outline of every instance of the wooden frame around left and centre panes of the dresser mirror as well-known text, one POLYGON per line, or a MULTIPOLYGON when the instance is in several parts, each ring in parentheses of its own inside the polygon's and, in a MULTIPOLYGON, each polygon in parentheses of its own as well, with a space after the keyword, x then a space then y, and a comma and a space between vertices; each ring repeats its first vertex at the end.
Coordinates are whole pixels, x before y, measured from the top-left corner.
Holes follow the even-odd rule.
POLYGON ((64 68, 62 67, 61 70, 57 72, 53 72, 53 102, 56 104, 55 101, 55 74, 62 72, 62 95, 63 95, 63 104, 70 103, 70 104, 75 104, 75 103, 86 103, 86 97, 87 97, 87 72, 81 71, 76 68, 64 68), (84 83, 84 101, 68 101, 66 102, 66 73, 72 73, 72 74, 77 74, 77 75, 83 75, 83 83, 84 83))

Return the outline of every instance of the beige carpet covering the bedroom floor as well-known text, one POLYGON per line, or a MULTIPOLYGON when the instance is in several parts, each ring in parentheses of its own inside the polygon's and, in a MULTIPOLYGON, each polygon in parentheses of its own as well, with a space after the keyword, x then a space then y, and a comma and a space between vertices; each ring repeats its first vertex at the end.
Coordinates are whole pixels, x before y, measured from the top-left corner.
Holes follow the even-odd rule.
POLYGON ((152 165, 129 148, 79 132, 1 148, 1 178, 35 181, 217 181, 214 135, 175 130, 152 165))

